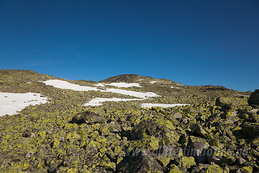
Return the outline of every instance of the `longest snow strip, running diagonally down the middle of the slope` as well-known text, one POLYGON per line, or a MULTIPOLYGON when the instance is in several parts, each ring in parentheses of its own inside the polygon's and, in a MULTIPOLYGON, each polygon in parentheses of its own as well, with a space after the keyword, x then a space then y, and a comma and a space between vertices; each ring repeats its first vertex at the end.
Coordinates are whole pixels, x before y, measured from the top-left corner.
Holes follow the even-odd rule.
POLYGON ((56 88, 73 89, 76 91, 90 91, 90 90, 98 91, 99 90, 101 92, 114 92, 114 93, 141 97, 141 98, 145 98, 146 96, 147 97, 157 97, 158 96, 154 92, 136 92, 136 91, 127 91, 127 90, 123 90, 123 89, 116 89, 116 88, 106 88, 107 90, 100 90, 95 87, 80 86, 80 85, 76 85, 76 84, 71 84, 67 81, 61 81, 61 80, 56 80, 56 79, 48 80, 48 81, 39 81, 39 82, 43 82, 46 85, 53 85, 53 87, 56 87, 56 88))

